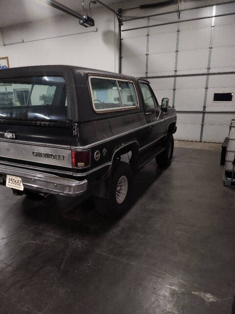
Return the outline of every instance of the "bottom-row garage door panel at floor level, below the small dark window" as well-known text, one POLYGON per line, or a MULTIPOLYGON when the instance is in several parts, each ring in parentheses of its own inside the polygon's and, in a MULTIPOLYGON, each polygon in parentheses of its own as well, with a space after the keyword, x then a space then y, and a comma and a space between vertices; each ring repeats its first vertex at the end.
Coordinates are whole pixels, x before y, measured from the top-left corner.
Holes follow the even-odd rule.
POLYGON ((203 142, 223 143, 229 134, 229 126, 226 125, 204 125, 203 142))

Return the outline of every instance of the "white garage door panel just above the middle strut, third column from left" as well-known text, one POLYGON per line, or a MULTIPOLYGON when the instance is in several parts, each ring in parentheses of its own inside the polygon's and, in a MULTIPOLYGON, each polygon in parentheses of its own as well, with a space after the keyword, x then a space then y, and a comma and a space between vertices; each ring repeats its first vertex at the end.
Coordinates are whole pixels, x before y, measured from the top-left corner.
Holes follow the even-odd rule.
POLYGON ((180 51, 178 55, 178 71, 201 70, 206 72, 208 64, 208 49, 180 51))

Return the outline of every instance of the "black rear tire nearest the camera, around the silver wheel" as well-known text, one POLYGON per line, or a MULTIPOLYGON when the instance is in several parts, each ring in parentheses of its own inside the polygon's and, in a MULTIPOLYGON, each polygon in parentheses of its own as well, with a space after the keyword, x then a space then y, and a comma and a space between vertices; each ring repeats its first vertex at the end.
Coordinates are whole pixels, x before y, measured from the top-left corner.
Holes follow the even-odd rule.
MULTIPOLYGON (((110 194, 109 194, 109 199, 104 199, 100 197, 95 197, 94 198, 94 204, 96 207, 96 210, 98 211, 99 214, 103 216, 110 216, 110 217, 119 217, 123 215, 127 209, 129 209, 130 202, 131 202, 131 194, 132 194, 132 181, 133 181, 133 175, 132 175, 132 170, 131 167, 126 163, 126 162, 118 162, 117 166, 115 167, 112 177, 110 180, 110 194), (123 179, 125 177, 126 179, 123 179), (122 178, 122 179, 121 179, 122 178), (119 180, 124 180, 124 183, 126 184, 127 180, 127 193, 124 198, 124 200, 121 203, 121 200, 118 200, 119 196, 116 196, 117 187, 118 187, 118 182, 122 182, 119 180)), ((119 185, 120 188, 120 185, 119 185)), ((125 191, 126 189, 122 190, 125 191)), ((121 192, 119 190, 119 192, 121 192)), ((121 195, 118 193, 118 195, 121 195)))

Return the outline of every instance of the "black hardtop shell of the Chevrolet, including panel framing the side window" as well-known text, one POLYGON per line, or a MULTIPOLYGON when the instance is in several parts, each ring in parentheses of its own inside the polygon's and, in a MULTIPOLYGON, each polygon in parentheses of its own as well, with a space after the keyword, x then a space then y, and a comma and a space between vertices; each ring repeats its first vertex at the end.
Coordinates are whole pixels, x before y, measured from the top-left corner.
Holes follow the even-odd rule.
MULTIPOLYGON (((75 122, 93 121, 98 119, 105 119, 115 117, 118 115, 126 115, 130 113, 137 113, 142 110, 140 101, 140 107, 131 110, 123 110, 117 112, 96 113, 92 105, 92 99, 90 89, 88 88, 88 74, 104 75, 113 78, 131 79, 135 83, 136 78, 118 74, 114 72, 101 71, 96 69, 82 68, 71 65, 39 65, 30 67, 10 68, 6 70, 0 70, 1 78, 23 78, 23 77, 42 77, 42 76, 59 76, 65 79, 65 82, 69 86, 69 102, 68 111, 70 112, 69 119, 75 122), (84 105, 85 104, 85 105, 84 105)), ((140 97, 140 92, 137 89, 137 93, 140 97)))

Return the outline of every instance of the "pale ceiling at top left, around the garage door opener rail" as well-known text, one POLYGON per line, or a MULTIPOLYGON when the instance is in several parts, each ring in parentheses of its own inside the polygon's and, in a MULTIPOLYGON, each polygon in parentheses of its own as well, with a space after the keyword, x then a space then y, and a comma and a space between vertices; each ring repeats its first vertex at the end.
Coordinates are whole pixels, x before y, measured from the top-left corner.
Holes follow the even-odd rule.
MULTIPOLYGON (((82 0, 58 0, 58 2, 69 8, 82 11, 82 0)), ((85 8, 89 6, 89 0, 84 0, 85 8)), ((103 0, 105 4, 123 2, 123 0, 103 0)), ((92 7, 99 4, 92 4, 92 7)), ((8 27, 25 22, 32 22, 44 18, 51 18, 56 15, 65 14, 55 8, 42 3, 40 0, 0 0, 0 28, 8 27)))

